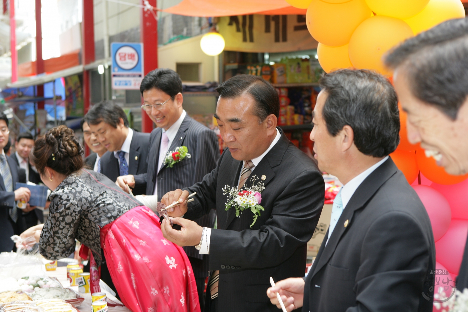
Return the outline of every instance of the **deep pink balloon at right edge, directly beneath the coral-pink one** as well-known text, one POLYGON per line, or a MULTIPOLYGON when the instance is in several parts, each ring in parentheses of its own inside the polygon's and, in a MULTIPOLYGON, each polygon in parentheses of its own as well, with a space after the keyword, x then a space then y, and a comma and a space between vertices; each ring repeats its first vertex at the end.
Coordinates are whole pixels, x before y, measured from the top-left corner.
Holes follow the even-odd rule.
POLYGON ((468 235, 468 220, 452 219, 445 235, 436 242, 436 261, 458 275, 468 235))

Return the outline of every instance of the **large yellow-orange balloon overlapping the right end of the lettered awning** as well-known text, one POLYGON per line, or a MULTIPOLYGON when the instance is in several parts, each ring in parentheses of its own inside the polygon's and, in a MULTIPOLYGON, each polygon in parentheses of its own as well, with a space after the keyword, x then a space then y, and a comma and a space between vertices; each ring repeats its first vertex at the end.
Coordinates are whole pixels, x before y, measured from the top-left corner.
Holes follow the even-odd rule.
POLYGON ((365 0, 339 4, 312 0, 306 14, 307 29, 318 42, 340 47, 348 44, 354 29, 371 15, 365 0))

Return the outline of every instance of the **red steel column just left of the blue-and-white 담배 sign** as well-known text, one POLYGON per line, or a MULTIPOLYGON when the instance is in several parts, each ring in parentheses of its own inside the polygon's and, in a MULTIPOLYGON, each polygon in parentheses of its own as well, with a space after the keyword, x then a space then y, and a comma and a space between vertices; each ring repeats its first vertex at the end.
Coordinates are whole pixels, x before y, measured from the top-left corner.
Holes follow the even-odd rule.
MULTIPOLYGON (((94 51, 94 7, 93 0, 83 0, 83 22, 81 23, 81 37, 83 47, 81 48, 81 64, 87 65, 95 61, 94 51)), ((83 70, 83 106, 84 113, 89 110, 91 98, 91 85, 89 71, 83 70)))

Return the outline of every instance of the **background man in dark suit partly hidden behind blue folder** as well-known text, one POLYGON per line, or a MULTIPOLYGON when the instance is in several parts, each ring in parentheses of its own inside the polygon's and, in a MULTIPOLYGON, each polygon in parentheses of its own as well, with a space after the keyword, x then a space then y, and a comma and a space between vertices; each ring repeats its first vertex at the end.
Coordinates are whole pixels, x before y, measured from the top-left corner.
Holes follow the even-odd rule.
MULTIPOLYGON (((26 173, 26 181, 39 184, 42 183, 41 176, 36 172, 36 168, 29 162, 29 153, 34 148, 34 138, 28 132, 23 132, 18 135, 15 143, 15 154, 11 157, 15 160, 18 167, 24 169, 26 173)), ((37 225, 37 222, 44 222, 44 214, 40 209, 34 209, 29 212, 23 212, 19 220, 18 226, 20 232, 29 229, 31 226, 37 225)))

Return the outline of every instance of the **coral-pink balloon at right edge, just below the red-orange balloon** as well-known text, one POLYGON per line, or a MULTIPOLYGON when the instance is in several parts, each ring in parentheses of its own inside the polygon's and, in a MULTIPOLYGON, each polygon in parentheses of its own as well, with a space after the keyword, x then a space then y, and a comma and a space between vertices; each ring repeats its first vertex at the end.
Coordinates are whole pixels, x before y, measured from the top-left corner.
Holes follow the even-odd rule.
POLYGON ((468 179, 452 185, 432 183, 431 188, 445 196, 452 209, 452 218, 468 220, 468 179))

